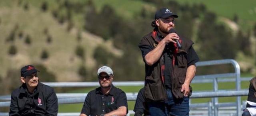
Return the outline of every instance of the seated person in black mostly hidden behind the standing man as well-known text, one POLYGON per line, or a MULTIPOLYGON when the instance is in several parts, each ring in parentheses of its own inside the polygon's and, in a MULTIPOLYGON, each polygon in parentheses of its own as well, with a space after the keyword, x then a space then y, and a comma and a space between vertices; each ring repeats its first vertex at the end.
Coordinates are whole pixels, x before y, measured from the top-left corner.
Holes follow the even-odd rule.
POLYGON ((144 114, 144 116, 150 116, 148 112, 148 106, 145 102, 144 87, 140 89, 137 95, 133 111, 135 112, 134 116, 142 116, 142 114, 144 114))

